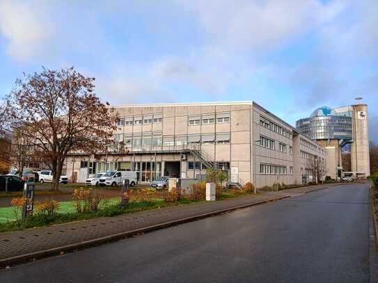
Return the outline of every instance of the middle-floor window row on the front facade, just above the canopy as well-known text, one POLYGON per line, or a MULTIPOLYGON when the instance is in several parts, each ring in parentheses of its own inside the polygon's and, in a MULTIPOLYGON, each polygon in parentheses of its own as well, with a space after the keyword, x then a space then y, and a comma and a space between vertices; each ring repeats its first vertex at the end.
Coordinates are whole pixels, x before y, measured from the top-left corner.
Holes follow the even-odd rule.
POLYGON ((198 134, 189 136, 162 136, 162 133, 145 133, 124 135, 115 134, 114 140, 123 143, 127 147, 140 147, 140 146, 173 146, 173 145, 188 145, 188 144, 228 144, 230 143, 230 133, 217 133, 217 134, 198 134))

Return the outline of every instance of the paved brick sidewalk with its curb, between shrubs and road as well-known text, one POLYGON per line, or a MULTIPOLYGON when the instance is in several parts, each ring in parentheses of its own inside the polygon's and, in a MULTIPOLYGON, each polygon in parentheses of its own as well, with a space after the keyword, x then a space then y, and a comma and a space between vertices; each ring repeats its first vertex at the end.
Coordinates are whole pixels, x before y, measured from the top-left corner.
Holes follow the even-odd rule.
POLYGON ((0 233, 0 267, 335 186, 325 184, 0 233))

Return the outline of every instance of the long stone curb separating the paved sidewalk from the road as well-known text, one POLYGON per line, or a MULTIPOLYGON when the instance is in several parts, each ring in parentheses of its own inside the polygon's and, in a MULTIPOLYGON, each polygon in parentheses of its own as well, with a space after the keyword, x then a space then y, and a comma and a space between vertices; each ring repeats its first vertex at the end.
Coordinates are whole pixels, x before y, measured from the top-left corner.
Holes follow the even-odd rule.
POLYGON ((199 214, 199 215, 196 215, 196 216, 189 216, 187 218, 181 218, 181 219, 169 221, 169 222, 166 222, 166 223, 151 225, 151 226, 148 226, 148 227, 134 229, 134 230, 130 230, 130 231, 127 231, 127 232, 121 232, 121 233, 118 233, 118 234, 112 234, 112 235, 104 236, 104 237, 101 237, 101 238, 94 238, 94 239, 91 239, 91 240, 88 240, 88 241, 82 241, 80 243, 63 245, 61 247, 51 248, 51 249, 48 249, 48 250, 41 250, 41 251, 38 251, 38 252, 31 252, 29 254, 22 254, 22 255, 19 255, 19 256, 16 256, 16 257, 8 257, 7 259, 0 259, 0 268, 3 268, 5 266, 9 266, 11 264, 20 264, 20 263, 23 263, 25 261, 28 261, 29 259, 35 260, 35 259, 40 259, 42 257, 49 257, 49 256, 52 256, 54 254, 60 254, 61 252, 70 252, 70 251, 78 250, 80 248, 86 248, 86 247, 89 247, 91 245, 98 245, 100 243, 107 243, 109 241, 114 241, 114 240, 117 240, 117 239, 120 239, 120 238, 125 238, 125 237, 128 237, 128 236, 134 236, 136 234, 143 234, 145 232, 152 232, 154 230, 162 229, 164 227, 171 227, 171 226, 179 225, 179 224, 182 224, 182 223, 189 223, 189 222, 192 222, 194 220, 207 218, 207 217, 210 217, 210 216, 216 216, 216 215, 219 215, 221 213, 228 212, 228 211, 235 211, 237 209, 243 209, 243 208, 246 208, 246 207, 253 207, 255 205, 265 204, 267 202, 274 202, 274 201, 277 201, 277 200, 283 200, 283 199, 288 198, 288 197, 291 197, 291 196, 285 195, 285 196, 282 196, 282 197, 272 198, 270 200, 262 200, 260 202, 242 204, 242 205, 239 205, 237 207, 229 207, 227 209, 220 209, 220 210, 217 210, 217 211, 202 213, 202 214, 199 214))

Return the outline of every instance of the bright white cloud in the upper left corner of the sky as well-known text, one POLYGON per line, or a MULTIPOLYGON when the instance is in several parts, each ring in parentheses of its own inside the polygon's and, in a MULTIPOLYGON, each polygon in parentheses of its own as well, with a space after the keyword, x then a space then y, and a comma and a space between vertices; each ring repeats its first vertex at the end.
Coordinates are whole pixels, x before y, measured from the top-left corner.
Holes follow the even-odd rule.
POLYGON ((45 40, 52 35, 52 29, 43 18, 43 11, 31 2, 1 1, 0 33, 9 40, 10 56, 26 60, 44 51, 45 40))

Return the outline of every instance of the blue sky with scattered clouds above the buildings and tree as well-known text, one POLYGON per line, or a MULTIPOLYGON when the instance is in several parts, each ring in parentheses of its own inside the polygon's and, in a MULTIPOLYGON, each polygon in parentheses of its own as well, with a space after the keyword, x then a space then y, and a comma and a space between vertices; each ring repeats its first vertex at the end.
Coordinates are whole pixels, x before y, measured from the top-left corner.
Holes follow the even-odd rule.
POLYGON ((0 0, 0 97, 74 66, 111 104, 254 100, 294 125, 368 104, 378 143, 377 0, 0 0))

